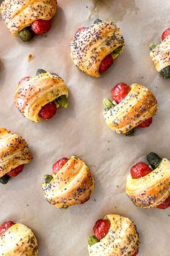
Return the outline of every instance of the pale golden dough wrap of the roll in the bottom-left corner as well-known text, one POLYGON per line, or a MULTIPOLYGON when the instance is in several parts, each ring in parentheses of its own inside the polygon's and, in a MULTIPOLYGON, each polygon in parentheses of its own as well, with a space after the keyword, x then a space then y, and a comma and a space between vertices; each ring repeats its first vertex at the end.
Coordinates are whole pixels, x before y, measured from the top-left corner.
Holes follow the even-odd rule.
POLYGON ((35 234, 23 224, 14 224, 0 236, 0 255, 37 256, 35 234))

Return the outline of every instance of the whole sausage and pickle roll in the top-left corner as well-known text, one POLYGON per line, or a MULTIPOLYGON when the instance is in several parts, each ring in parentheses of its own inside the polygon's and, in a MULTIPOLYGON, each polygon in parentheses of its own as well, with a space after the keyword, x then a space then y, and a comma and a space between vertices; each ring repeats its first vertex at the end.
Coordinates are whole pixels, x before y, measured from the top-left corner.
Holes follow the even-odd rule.
POLYGON ((56 0, 4 0, 1 16, 12 35, 27 42, 35 34, 47 33, 57 9, 56 0))

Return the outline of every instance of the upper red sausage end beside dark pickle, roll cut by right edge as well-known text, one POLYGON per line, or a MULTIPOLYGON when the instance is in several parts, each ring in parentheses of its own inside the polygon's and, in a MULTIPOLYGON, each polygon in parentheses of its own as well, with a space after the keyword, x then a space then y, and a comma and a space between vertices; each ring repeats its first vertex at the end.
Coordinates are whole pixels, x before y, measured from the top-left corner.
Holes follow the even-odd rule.
POLYGON ((151 168, 149 168, 146 163, 138 162, 130 169, 130 174, 133 179, 139 179, 146 176, 147 174, 150 174, 151 171, 151 168))

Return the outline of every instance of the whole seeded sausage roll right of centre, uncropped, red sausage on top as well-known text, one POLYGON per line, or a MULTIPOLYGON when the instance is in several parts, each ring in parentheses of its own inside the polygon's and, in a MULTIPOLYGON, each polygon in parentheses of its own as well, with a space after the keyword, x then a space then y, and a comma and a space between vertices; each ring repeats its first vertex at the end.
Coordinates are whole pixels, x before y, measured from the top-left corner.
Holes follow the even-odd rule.
POLYGON ((149 127, 157 111, 157 101, 148 88, 120 82, 112 88, 112 100, 105 98, 104 119, 117 133, 132 136, 135 127, 149 127))

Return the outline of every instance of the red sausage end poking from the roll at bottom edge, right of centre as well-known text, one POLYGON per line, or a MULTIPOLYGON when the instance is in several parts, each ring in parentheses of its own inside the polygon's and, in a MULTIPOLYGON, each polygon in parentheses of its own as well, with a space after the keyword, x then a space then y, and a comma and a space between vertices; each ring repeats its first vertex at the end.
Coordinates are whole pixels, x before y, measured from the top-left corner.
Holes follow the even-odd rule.
POLYGON ((94 235, 97 237, 97 239, 101 240, 109 232, 109 227, 109 221, 99 219, 93 228, 94 235))

